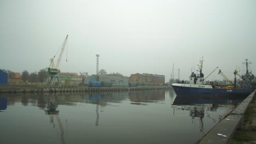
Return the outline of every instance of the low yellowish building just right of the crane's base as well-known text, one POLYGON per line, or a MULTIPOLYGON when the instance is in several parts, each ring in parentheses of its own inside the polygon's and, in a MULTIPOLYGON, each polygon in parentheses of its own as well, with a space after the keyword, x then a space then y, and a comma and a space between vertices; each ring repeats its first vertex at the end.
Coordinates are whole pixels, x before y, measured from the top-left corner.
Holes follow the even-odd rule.
POLYGON ((62 85, 80 85, 82 83, 82 77, 77 73, 59 73, 58 76, 62 85))

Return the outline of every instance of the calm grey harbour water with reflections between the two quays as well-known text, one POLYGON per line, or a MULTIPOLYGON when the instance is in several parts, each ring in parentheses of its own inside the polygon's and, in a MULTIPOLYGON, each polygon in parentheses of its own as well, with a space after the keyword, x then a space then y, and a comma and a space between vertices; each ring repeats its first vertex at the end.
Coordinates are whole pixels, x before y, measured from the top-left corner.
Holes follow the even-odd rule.
POLYGON ((173 89, 0 94, 0 143, 195 143, 242 100, 173 89))

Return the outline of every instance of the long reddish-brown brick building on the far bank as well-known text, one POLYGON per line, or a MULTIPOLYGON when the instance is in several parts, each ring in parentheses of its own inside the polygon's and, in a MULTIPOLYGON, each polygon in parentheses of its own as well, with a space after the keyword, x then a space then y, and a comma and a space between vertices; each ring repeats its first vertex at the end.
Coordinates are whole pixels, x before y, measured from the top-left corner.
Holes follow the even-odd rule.
POLYGON ((154 83, 158 85, 165 84, 164 75, 155 75, 155 74, 131 74, 129 77, 129 82, 138 82, 138 83, 154 83))

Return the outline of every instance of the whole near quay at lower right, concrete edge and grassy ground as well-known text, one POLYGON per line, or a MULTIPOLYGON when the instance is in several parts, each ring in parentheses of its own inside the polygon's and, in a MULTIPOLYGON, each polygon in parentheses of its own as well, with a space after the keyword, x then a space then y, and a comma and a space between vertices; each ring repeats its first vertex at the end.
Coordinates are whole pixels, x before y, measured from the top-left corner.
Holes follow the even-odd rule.
POLYGON ((255 92, 248 95, 197 143, 256 143, 255 92))

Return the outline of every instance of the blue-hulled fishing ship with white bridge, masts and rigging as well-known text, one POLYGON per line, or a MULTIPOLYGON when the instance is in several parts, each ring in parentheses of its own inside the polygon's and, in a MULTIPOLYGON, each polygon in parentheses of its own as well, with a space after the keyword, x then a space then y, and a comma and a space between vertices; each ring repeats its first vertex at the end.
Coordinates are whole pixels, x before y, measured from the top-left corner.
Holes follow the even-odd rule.
MULTIPOLYGON (((204 74, 202 73, 203 58, 200 61, 199 74, 191 73, 189 81, 186 83, 173 83, 172 87, 176 95, 224 95, 224 96, 245 96, 247 97, 254 90, 254 75, 248 71, 248 60, 246 59, 246 74, 239 75, 237 70, 234 71, 234 83, 232 85, 219 86, 214 84, 206 84, 204 74), (241 80, 236 82, 236 76, 240 76, 241 80)), ((217 67, 218 68, 218 67, 217 67)), ((216 68, 216 69, 217 69, 216 68)), ((212 72, 213 73, 213 72, 212 72)), ((219 70, 219 74, 225 75, 219 70)))

